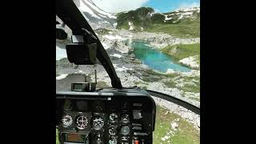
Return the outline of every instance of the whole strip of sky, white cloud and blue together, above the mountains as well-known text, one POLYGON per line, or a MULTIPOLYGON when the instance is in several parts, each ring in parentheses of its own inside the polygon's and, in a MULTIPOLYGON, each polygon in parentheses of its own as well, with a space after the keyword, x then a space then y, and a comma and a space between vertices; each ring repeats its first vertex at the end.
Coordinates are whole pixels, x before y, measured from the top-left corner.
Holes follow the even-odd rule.
POLYGON ((135 10, 138 7, 150 6, 156 12, 165 13, 181 7, 199 6, 200 0, 91 0, 102 10, 110 13, 135 10))

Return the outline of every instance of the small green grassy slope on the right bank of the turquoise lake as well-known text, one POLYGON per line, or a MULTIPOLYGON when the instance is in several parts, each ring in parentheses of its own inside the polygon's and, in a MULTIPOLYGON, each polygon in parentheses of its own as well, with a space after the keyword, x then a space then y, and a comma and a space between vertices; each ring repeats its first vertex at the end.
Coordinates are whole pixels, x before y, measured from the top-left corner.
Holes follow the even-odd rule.
POLYGON ((188 58, 190 56, 199 55, 197 58, 198 62, 200 62, 200 43, 188 44, 188 45, 174 45, 174 46, 166 46, 161 50, 165 54, 169 54, 172 58, 177 60, 181 60, 183 58, 188 58))

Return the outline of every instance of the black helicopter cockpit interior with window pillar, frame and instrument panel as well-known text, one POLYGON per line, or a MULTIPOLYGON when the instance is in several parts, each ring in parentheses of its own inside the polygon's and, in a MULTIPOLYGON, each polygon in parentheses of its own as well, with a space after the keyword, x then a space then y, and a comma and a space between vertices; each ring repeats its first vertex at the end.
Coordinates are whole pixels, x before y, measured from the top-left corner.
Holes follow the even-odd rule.
MULTIPOLYGON (((63 144, 122 143, 151 144, 156 117, 156 104, 151 96, 166 99, 200 114, 200 109, 170 95, 138 87, 122 86, 106 50, 94 30, 72 0, 56 0, 56 15, 72 30, 72 42, 66 54, 75 65, 100 62, 110 77, 112 88, 96 89, 95 82, 70 83, 69 90, 56 91, 56 126, 63 144)), ((56 27, 56 38, 67 34, 56 27)))

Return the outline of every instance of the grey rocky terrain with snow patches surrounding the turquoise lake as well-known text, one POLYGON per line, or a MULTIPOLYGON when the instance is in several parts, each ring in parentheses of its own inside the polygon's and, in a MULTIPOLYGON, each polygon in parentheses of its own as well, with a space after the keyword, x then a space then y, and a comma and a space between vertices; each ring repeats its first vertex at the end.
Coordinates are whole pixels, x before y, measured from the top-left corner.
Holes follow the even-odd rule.
MULTIPOLYGON (((96 33, 98 34, 98 38, 100 38, 102 45, 105 47, 107 53, 110 55, 110 59, 113 62, 114 68, 118 74, 118 77, 122 81, 122 86, 124 87, 131 87, 131 86, 140 86, 142 88, 146 88, 148 90, 155 90, 158 92, 162 92, 164 94, 170 94, 176 98, 181 98, 182 100, 185 100, 186 102, 190 102, 196 106, 200 106, 200 102, 198 100, 195 100, 197 98, 200 98, 200 93, 190 93, 183 90, 179 90, 176 86, 174 87, 168 87, 165 85, 166 81, 175 81, 178 86, 184 86, 187 83, 194 82, 186 82, 186 78, 193 78, 193 77, 199 77, 200 76, 200 70, 191 70, 190 72, 182 73, 182 72, 174 72, 172 70, 169 70, 167 74, 176 74, 174 77, 168 77, 166 74, 160 74, 152 73, 150 72, 150 69, 147 68, 147 66, 143 65, 142 62, 140 62, 138 59, 134 58, 133 54, 129 54, 130 51, 133 50, 132 47, 126 46, 123 40, 132 40, 134 39, 142 39, 142 40, 148 40, 148 39, 154 39, 159 38, 158 34, 142 34, 147 32, 139 32, 138 34, 134 34, 128 30, 111 30, 107 34, 101 34, 100 30, 96 30, 96 33), (145 38, 145 35, 150 35, 150 38, 145 38), (142 36, 142 37, 140 37, 142 36), (155 37, 154 37, 155 36, 155 37), (179 78, 180 77, 180 78, 179 78), (152 82, 145 81, 144 78, 153 80, 152 82)), ((171 41, 172 37, 167 37, 166 41, 171 41)), ((184 42, 191 43, 190 40, 183 39, 184 42)), ((161 41, 155 41, 157 44, 160 44, 158 42, 161 41)), ((180 38, 177 38, 176 42, 182 42, 180 41, 180 38)), ((57 46, 62 47, 63 45, 60 44, 62 42, 57 42, 57 46)), ((63 48, 63 47, 62 47, 63 48)), ((83 73, 90 74, 93 72, 93 70, 98 71, 98 82, 104 82, 105 86, 111 86, 110 84, 110 78, 108 77, 108 74, 106 74, 106 70, 103 69, 101 65, 95 65, 95 66, 74 66, 73 64, 70 64, 67 60, 67 58, 62 58, 58 61, 56 61, 56 68, 57 68, 57 74, 60 74, 60 77, 63 77, 62 74, 79 74, 79 71, 82 71, 83 73)), ((65 75, 64 75, 65 76, 65 75)), ((58 77, 59 78, 59 77, 58 77)), ((91 76, 91 79, 94 79, 94 75, 91 76)), ((164 101, 157 101, 158 105, 166 106, 170 110, 175 110, 174 107, 170 107, 168 104, 164 101)), ((180 111, 178 112, 178 114, 180 111)), ((183 112, 186 113, 186 112, 183 112)), ((187 111, 187 114, 190 114, 191 112, 187 111)), ((180 114, 182 115, 182 113, 180 114)), ((185 114, 186 115, 186 114, 185 114)), ((198 121, 199 116, 194 118, 194 124, 197 124, 196 121, 198 121)), ((198 125, 196 125, 198 126, 198 125)))

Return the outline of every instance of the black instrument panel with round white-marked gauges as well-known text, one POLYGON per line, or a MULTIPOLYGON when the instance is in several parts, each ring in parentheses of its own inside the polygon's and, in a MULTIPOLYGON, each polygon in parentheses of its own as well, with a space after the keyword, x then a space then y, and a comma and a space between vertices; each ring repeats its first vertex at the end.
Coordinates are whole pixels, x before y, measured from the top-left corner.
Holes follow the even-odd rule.
POLYGON ((58 96, 56 121, 61 143, 153 142, 155 104, 152 98, 58 96))

